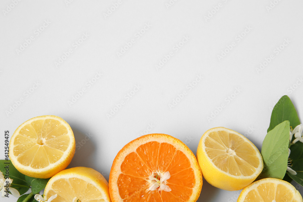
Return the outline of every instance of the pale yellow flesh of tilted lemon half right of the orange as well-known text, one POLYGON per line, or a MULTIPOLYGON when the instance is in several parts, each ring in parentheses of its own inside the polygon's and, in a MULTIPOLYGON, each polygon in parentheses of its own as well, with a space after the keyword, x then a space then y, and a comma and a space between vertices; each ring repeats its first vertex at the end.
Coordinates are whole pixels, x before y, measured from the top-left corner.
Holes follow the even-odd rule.
POLYGON ((205 151, 219 169, 231 175, 251 176, 259 166, 254 148, 226 131, 211 132, 205 139, 205 151))

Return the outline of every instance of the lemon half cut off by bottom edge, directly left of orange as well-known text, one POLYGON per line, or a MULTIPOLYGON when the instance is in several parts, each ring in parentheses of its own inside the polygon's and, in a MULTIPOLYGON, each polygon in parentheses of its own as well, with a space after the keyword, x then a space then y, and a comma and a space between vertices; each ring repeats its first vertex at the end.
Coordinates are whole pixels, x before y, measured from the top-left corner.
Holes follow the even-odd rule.
POLYGON ((46 184, 46 198, 52 202, 109 202, 108 182, 98 171, 87 167, 69 168, 55 174, 46 184))

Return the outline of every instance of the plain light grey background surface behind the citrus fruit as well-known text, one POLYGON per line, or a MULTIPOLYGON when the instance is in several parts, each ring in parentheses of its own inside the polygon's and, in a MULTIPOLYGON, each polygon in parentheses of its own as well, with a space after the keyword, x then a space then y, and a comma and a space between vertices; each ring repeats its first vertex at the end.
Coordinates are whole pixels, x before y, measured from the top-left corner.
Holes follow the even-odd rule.
MULTIPOLYGON (((39 115, 71 125, 78 147, 69 167, 92 167, 107 179, 117 152, 143 133, 170 134, 196 153, 201 135, 223 126, 261 150, 282 95, 302 118, 302 1, 119 3, 0 2, 0 159, 4 131, 39 115)), ((204 181, 198 201, 236 201, 238 194, 204 181)))

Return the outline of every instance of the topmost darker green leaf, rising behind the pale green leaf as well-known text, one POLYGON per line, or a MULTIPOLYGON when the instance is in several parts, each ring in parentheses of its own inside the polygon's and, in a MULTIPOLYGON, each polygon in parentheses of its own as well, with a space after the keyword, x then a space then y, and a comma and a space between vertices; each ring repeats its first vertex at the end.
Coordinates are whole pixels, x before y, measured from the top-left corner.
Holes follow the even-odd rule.
POLYGON ((298 117, 296 108, 287 95, 280 98, 278 103, 273 108, 267 132, 274 129, 274 127, 283 121, 289 121, 292 129, 300 124, 300 119, 298 117))

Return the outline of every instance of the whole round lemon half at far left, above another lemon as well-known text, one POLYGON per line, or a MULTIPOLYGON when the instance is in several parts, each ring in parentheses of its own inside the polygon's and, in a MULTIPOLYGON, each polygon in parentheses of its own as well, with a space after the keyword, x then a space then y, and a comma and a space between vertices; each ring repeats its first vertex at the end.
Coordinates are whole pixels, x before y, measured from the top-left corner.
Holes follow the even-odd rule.
POLYGON ((73 131, 57 116, 38 116, 25 121, 9 143, 12 164, 29 177, 52 177, 68 166, 74 154, 73 131))

